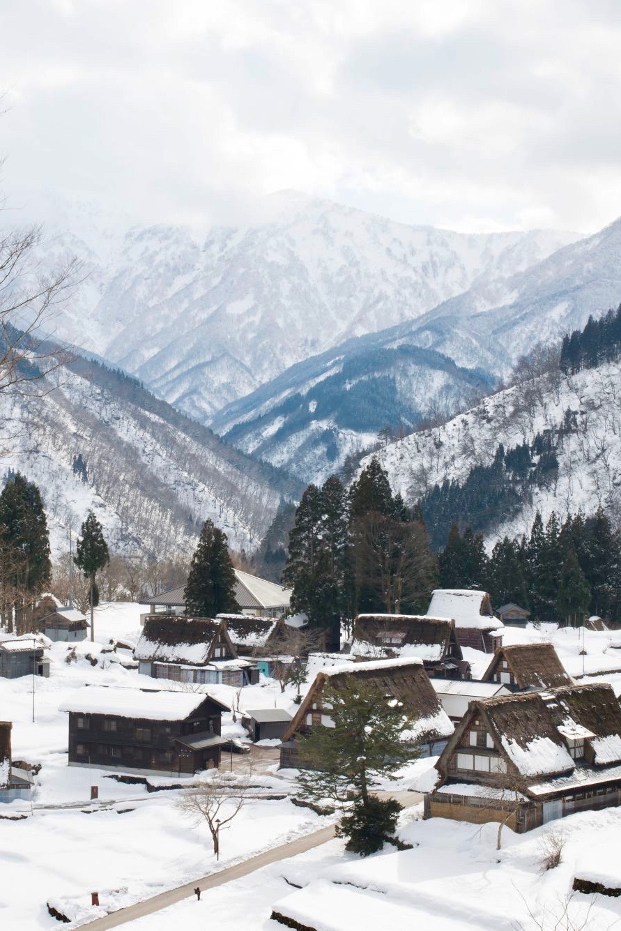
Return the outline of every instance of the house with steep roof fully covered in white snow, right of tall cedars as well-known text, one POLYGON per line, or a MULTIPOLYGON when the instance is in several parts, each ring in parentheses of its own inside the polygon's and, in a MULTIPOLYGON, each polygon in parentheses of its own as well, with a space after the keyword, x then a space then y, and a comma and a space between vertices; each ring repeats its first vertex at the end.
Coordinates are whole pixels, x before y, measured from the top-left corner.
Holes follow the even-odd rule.
POLYGON ((448 617, 455 622, 457 641, 483 653, 502 645, 503 625, 494 617, 486 591, 466 588, 436 588, 429 602, 428 617, 448 617))

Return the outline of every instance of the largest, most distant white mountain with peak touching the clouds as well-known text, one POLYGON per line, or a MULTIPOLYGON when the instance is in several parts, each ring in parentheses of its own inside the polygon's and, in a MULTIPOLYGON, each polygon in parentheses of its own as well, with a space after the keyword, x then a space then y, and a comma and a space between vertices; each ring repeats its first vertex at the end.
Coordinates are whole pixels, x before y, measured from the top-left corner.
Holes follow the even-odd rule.
POLYGON ((269 216, 200 241, 176 227, 50 231, 88 280, 57 337, 140 377, 209 422, 297 362, 411 321, 573 242, 555 231, 465 235, 407 226, 294 192, 269 216))

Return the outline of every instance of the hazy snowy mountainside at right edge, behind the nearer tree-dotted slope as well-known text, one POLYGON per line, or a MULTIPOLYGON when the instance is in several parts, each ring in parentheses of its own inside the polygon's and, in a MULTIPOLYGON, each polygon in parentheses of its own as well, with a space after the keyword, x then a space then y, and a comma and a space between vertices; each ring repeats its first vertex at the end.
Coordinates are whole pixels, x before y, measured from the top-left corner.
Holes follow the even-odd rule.
POLYGON ((509 277, 476 282, 399 335, 459 365, 506 371, 536 343, 582 329, 621 302, 621 218, 509 277))

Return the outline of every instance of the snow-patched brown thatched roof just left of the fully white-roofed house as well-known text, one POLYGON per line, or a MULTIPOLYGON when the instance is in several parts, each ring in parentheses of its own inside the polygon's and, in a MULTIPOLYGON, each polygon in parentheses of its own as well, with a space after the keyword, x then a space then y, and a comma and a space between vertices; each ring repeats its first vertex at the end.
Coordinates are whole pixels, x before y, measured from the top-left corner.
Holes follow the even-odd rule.
POLYGON ((351 653, 357 656, 378 656, 385 650, 395 656, 418 656, 423 660, 442 660, 453 644, 453 655, 462 658, 454 624, 445 617, 421 614, 358 614, 354 622, 354 640, 351 653), (382 640, 403 635, 400 644, 383 646, 382 640))

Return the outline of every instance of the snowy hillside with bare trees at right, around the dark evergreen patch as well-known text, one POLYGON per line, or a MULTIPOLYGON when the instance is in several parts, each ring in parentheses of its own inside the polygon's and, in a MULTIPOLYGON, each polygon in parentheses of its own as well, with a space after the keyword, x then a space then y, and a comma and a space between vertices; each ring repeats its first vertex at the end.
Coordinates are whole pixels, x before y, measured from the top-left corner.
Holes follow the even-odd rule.
MULTIPOLYGON (((391 484, 408 500, 417 499, 444 479, 466 479, 476 465, 488 466, 499 443, 505 447, 532 442, 543 430, 556 430, 565 412, 574 413, 572 432, 558 442, 558 478, 533 488, 533 502, 520 515, 494 529, 499 536, 530 530, 539 509, 544 519, 555 510, 561 518, 582 508, 603 506, 621 514, 621 364, 602 365, 577 375, 542 376, 526 388, 515 386, 485 398, 447 424, 389 445, 377 455, 391 484)), ((361 467, 367 464, 363 460, 361 467)), ((455 515, 458 517, 458 515, 455 515)))

